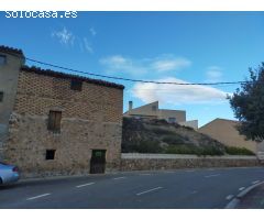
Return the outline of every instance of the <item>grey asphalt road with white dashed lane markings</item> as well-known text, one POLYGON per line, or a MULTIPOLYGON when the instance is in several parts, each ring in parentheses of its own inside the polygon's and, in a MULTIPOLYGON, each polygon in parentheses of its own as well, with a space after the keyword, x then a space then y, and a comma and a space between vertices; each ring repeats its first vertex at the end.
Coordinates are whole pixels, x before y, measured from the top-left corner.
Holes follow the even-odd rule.
POLYGON ((264 167, 131 172, 0 187, 0 208, 215 209, 264 180, 264 167))

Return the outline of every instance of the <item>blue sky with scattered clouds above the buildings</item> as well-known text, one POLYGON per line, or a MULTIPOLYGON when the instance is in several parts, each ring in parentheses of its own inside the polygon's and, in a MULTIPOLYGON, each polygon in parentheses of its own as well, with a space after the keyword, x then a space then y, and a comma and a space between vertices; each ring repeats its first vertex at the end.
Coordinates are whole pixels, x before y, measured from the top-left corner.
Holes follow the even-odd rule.
MULTIPOLYGON (((264 62, 264 12, 78 12, 76 19, 7 19, 1 12, 0 23, 6 30, 0 44, 22 48, 31 58, 109 76, 237 81, 264 62)), ((129 100, 134 107, 160 100, 160 108, 186 110, 199 125, 233 119, 224 97, 239 87, 116 82, 125 86, 124 111, 129 100)))

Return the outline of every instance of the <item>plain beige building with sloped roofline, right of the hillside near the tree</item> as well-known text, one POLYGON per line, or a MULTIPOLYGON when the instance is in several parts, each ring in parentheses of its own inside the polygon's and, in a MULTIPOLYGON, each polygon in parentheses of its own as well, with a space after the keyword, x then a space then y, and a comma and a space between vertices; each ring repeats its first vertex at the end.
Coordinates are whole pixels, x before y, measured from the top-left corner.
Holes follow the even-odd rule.
POLYGON ((227 119, 215 119, 211 122, 199 128, 200 133, 207 134, 212 139, 228 146, 245 147, 256 152, 257 143, 254 141, 246 141, 244 135, 241 135, 235 127, 239 121, 227 119))

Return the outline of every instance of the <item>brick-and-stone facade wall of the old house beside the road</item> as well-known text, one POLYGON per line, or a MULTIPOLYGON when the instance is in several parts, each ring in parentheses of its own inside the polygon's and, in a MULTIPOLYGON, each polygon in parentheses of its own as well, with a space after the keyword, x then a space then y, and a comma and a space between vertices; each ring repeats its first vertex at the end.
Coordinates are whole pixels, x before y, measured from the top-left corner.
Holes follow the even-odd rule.
POLYGON ((122 89, 88 82, 81 91, 69 88, 69 79, 20 74, 4 161, 23 177, 87 174, 96 148, 107 150, 107 170, 119 168, 122 89), (62 111, 59 133, 47 130, 50 110, 62 111), (55 160, 46 161, 51 148, 55 160))

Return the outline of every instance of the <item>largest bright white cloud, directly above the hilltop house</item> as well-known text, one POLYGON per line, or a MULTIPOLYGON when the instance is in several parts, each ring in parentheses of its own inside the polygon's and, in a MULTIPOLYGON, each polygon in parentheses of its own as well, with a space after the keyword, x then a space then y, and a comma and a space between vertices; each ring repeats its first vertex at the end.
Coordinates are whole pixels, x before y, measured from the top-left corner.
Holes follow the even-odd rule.
MULTIPOLYGON (((169 77, 156 81, 186 82, 184 80, 169 77)), ((138 82, 132 88, 132 95, 145 103, 158 100, 169 105, 189 103, 219 103, 227 101, 227 94, 222 90, 209 86, 191 85, 167 85, 167 84, 141 84, 138 82)))

